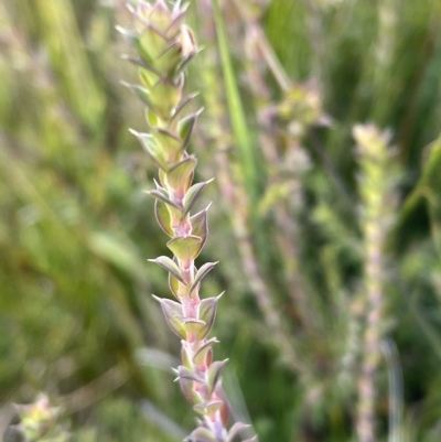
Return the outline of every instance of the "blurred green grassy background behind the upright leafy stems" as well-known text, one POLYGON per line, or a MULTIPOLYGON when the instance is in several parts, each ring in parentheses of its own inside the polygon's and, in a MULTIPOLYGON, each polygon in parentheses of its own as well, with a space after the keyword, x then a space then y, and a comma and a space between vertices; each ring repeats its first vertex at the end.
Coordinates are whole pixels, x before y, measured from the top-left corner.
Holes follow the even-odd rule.
MULTIPOLYGON (((356 440, 366 183, 352 128, 372 121, 390 132, 394 194, 378 441, 439 442, 441 3, 224 0, 217 18, 220 44, 211 2, 190 1, 204 48, 187 90, 205 107, 198 179, 216 177, 200 259, 219 261, 204 293, 226 290, 214 335, 235 416, 261 442, 356 440)), ((39 392, 74 441, 193 427, 170 370, 180 343, 150 297, 169 295, 147 262, 166 238, 116 24, 131 26, 119 0, 0 4, 1 432, 39 392)))

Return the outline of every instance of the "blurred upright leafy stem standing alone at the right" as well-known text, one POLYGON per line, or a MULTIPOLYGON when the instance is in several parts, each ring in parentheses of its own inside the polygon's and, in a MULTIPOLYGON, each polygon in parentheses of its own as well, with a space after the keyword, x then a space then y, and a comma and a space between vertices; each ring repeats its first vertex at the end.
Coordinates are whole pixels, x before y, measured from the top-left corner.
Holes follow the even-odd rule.
POLYGON ((363 343, 362 371, 358 382, 357 433, 359 442, 374 442, 375 438, 375 377, 381 357, 385 324, 384 247, 394 208, 389 134, 373 125, 354 127, 361 165, 359 188, 364 213, 365 244, 364 285, 366 324, 363 343))

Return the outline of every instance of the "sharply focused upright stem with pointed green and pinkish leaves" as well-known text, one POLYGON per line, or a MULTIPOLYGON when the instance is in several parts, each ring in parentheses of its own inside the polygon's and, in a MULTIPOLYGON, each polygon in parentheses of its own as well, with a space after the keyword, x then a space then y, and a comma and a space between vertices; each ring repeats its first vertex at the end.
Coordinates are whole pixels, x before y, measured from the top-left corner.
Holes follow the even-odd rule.
POLYGON ((182 365, 175 369, 185 398, 202 414, 200 425, 189 436, 192 442, 233 442, 247 425, 235 423, 228 431, 229 408, 220 384, 226 363, 213 360, 215 337, 208 338, 220 295, 201 300, 202 279, 216 262, 198 269, 194 260, 207 238, 208 207, 191 211, 209 183, 192 185, 197 160, 186 149, 198 112, 189 114, 195 95, 184 97, 186 64, 197 54, 192 30, 184 24, 186 7, 178 1, 169 8, 163 0, 153 4, 139 1, 129 7, 137 32, 119 29, 137 52, 127 58, 138 66, 141 85, 127 86, 147 106, 149 133, 132 133, 159 168, 159 183, 149 194, 155 198, 154 214, 171 238, 166 246, 173 259, 161 256, 152 261, 169 272, 169 287, 176 301, 154 297, 165 320, 182 342, 182 365))

